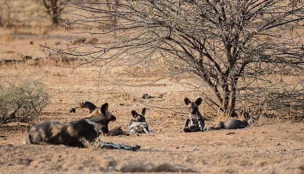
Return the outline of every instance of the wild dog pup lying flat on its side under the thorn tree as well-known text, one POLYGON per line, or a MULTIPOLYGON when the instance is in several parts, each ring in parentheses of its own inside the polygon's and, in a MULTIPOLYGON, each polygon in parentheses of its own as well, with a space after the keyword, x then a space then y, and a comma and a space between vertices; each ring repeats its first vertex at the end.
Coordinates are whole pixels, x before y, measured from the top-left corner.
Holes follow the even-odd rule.
POLYGON ((217 127, 214 127, 214 125, 213 127, 209 127, 209 130, 245 128, 257 121, 257 117, 251 117, 248 120, 247 119, 231 119, 220 121, 217 127))

